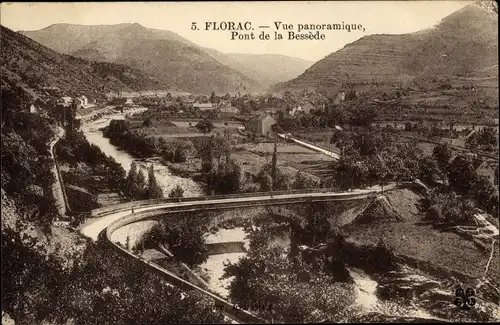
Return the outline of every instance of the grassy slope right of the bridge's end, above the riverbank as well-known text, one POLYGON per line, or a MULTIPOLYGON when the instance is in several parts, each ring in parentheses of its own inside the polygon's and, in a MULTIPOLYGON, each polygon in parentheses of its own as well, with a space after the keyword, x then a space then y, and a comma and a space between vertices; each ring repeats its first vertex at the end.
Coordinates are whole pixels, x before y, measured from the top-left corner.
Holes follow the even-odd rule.
MULTIPOLYGON (((482 251, 470 240, 422 223, 422 214, 418 210, 420 197, 415 193, 398 190, 388 193, 387 198, 403 221, 374 221, 371 224, 348 226, 346 231, 353 240, 376 244, 383 238, 395 254, 426 261, 473 278, 483 276, 490 256, 489 250, 482 251)), ((489 272, 491 279, 499 272, 498 262, 492 261, 489 272)))

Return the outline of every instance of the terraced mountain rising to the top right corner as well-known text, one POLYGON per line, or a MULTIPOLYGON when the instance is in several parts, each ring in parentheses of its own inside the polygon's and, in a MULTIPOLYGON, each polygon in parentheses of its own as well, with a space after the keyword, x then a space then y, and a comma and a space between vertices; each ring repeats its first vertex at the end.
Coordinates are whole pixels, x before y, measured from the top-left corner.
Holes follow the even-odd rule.
POLYGON ((427 30, 362 37, 274 90, 395 83, 416 76, 481 78, 492 69, 498 71, 498 15, 468 5, 427 30))

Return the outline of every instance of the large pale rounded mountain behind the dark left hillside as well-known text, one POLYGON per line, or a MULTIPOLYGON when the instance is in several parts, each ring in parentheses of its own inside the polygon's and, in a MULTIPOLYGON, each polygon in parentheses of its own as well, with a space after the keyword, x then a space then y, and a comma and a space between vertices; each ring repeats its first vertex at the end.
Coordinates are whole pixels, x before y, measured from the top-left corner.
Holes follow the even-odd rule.
POLYGON ((189 40, 139 24, 56 24, 20 32, 60 53, 141 69, 171 87, 209 94, 258 90, 261 85, 189 40))

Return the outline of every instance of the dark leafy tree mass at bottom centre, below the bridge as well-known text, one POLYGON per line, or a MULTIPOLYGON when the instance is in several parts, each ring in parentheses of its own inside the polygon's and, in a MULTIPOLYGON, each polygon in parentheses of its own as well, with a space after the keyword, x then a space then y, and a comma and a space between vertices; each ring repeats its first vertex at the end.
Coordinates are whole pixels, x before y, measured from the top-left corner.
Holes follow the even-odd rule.
POLYGON ((288 258, 279 247, 251 250, 238 263, 227 266, 224 277, 234 277, 230 286, 232 301, 242 305, 271 304, 272 308, 260 314, 276 323, 339 321, 352 312, 355 297, 350 284, 332 281, 302 257, 288 258), (314 276, 301 276, 306 273, 314 276))

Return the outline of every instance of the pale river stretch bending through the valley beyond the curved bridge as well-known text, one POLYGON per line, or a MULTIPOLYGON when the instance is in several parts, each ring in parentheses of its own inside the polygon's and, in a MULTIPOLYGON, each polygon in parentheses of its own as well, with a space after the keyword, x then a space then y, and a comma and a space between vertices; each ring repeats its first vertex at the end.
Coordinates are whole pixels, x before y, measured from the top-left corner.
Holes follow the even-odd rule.
POLYGON ((203 188, 200 184, 189 178, 172 175, 168 167, 160 163, 158 159, 144 160, 132 157, 129 153, 112 145, 109 139, 105 138, 102 131, 99 130, 109 125, 113 119, 123 119, 126 114, 139 114, 145 110, 147 110, 147 108, 136 107, 125 113, 114 113, 94 121, 87 121, 82 125, 82 131, 90 143, 97 145, 106 155, 113 157, 127 172, 130 170, 132 162, 136 162, 137 166, 143 170, 147 178, 147 168, 153 164, 156 179, 163 189, 164 196, 168 196, 170 191, 177 185, 180 185, 184 189, 185 197, 202 196, 203 188))

